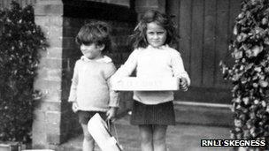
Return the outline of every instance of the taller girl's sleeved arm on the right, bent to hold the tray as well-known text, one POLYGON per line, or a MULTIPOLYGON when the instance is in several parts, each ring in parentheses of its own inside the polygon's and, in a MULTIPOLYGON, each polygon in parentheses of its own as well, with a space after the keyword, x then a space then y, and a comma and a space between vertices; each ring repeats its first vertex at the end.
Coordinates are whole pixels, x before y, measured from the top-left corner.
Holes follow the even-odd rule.
POLYGON ((176 51, 176 53, 173 54, 171 65, 173 70, 173 76, 181 78, 182 80, 186 80, 187 85, 189 86, 190 79, 188 77, 188 72, 185 71, 181 54, 179 52, 176 51))

